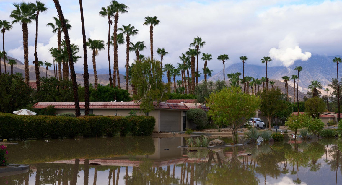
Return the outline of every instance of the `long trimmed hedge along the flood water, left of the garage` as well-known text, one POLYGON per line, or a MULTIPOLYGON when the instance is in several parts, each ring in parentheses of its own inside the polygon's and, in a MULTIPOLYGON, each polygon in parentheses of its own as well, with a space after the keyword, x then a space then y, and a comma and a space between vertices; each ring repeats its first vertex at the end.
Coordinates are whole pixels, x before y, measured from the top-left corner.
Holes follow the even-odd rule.
POLYGON ((151 135, 155 125, 153 116, 22 116, 0 113, 0 138, 58 138, 151 135), (132 126, 131 126, 132 125, 132 126))

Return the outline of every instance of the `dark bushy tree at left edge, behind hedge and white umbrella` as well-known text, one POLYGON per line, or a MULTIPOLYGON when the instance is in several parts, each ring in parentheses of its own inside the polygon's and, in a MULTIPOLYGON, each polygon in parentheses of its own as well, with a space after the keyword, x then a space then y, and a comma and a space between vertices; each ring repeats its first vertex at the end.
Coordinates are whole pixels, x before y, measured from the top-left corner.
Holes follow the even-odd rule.
POLYGON ((0 112, 13 113, 30 103, 32 89, 19 75, 0 75, 0 112))

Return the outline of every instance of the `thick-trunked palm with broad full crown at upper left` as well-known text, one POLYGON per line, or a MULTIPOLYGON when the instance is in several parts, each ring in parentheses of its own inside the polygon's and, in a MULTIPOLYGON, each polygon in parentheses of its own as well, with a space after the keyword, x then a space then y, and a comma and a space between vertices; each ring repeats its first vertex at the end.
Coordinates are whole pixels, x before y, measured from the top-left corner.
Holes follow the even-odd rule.
POLYGON ((28 69, 28 29, 27 24, 31 24, 35 19, 35 7, 34 3, 13 3, 15 9, 12 10, 10 17, 14 20, 14 23, 20 23, 23 29, 23 45, 24 45, 24 65, 25 65, 25 83, 28 85, 30 81, 29 69, 28 69))

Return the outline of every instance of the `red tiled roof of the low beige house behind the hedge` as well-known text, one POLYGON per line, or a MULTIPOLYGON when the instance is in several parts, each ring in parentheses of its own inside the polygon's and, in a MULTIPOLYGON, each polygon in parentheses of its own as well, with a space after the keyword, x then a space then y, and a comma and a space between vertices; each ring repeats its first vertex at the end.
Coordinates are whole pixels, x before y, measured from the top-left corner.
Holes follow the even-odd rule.
MULTIPOLYGON (((79 102, 80 108, 84 109, 84 102, 79 102)), ((153 103, 155 106, 156 102, 153 103)), ((55 108, 65 108, 65 109, 74 109, 75 102, 37 102, 33 108, 46 108, 50 105, 53 105, 55 108)), ((134 102, 90 102, 91 109, 139 109, 140 103, 134 102)), ((184 104, 176 104, 176 103, 165 103, 160 102, 158 106, 155 108, 160 109, 177 109, 177 110, 189 110, 189 108, 184 104)))

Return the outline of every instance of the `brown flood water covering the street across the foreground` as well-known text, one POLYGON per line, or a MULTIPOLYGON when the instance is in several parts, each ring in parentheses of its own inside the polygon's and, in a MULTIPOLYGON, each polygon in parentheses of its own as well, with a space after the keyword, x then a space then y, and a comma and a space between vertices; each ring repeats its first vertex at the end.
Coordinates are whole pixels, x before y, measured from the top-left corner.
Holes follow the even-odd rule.
POLYGON ((285 140, 195 153, 177 148, 185 145, 184 137, 14 143, 19 145, 8 145, 9 162, 29 164, 30 169, 0 177, 1 185, 342 184, 342 141, 335 139, 296 144, 285 140))

